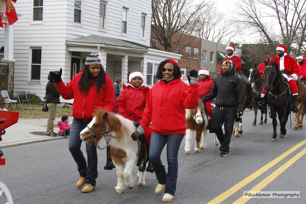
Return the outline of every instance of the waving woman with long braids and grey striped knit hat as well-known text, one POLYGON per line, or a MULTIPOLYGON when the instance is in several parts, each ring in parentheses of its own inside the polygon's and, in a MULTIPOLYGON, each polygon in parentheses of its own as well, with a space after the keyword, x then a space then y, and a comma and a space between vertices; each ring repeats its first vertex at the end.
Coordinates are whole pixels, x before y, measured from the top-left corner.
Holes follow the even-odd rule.
POLYGON ((54 84, 64 99, 72 99, 72 127, 69 137, 69 151, 76 162, 80 179, 76 187, 85 187, 83 193, 89 193, 95 189, 98 177, 98 156, 95 144, 86 143, 87 164, 82 151, 80 150, 82 140, 80 132, 87 127, 92 120, 94 109, 102 107, 112 112, 115 107, 115 92, 113 82, 106 74, 101 65, 98 53, 91 53, 86 58, 85 65, 80 73, 65 85, 62 81, 62 69, 52 71, 54 84))

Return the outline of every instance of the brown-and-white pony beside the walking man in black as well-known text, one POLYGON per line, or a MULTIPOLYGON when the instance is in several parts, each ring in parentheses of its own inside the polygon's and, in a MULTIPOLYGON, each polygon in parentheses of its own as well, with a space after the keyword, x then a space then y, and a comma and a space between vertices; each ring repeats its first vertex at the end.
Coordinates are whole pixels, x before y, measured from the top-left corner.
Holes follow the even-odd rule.
MULTIPOLYGON (((199 106, 195 109, 186 109, 186 137, 185 137, 185 154, 190 154, 190 146, 191 146, 191 138, 194 132, 196 132, 196 147, 194 148, 194 152, 200 152, 200 149, 204 149, 206 147, 206 134, 207 134, 207 124, 208 124, 208 114, 207 110, 202 102, 199 99, 199 106), (202 143, 201 135, 203 136, 202 143)), ((219 140, 217 135, 214 135, 214 143, 216 146, 219 144, 219 140)))

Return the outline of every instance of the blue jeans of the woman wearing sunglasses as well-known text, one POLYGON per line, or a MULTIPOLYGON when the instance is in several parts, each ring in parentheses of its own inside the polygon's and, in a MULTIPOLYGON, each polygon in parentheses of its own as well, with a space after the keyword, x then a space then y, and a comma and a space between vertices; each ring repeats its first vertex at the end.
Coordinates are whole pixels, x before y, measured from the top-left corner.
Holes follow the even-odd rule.
POLYGON ((166 184, 165 193, 174 195, 176 190, 178 162, 177 154, 180 149, 181 142, 184 138, 183 134, 161 135, 152 133, 150 141, 149 158, 154 168, 155 175, 159 184, 166 184), (160 155, 167 143, 167 162, 168 172, 162 165, 160 155))

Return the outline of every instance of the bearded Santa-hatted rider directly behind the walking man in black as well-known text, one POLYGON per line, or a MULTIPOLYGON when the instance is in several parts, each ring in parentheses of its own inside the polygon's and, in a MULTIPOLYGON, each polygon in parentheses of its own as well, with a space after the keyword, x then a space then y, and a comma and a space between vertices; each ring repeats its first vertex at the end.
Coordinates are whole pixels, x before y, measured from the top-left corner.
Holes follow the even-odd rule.
MULTIPOLYGON (((222 64, 226 60, 231 60, 233 61, 233 65, 236 64, 235 69, 241 76, 241 79, 245 86, 247 87, 247 95, 248 95, 248 101, 247 101, 247 108, 252 108, 252 84, 249 82, 249 80, 244 76, 243 72, 241 71, 241 58, 234 55, 236 53, 236 49, 233 45, 229 45, 225 49, 227 57, 222 61, 222 64)), ((222 72, 222 66, 220 69, 220 73, 222 72)))

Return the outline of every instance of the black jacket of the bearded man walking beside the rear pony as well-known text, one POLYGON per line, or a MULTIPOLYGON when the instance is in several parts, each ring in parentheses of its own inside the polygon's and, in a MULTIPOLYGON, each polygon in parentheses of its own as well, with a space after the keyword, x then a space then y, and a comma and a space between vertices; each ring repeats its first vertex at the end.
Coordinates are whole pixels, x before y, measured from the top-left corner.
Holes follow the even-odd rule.
POLYGON ((217 76, 212 87, 211 92, 202 98, 203 102, 210 101, 216 98, 215 104, 217 106, 236 106, 237 111, 243 111, 244 95, 243 86, 240 78, 235 75, 235 70, 227 74, 217 76))

